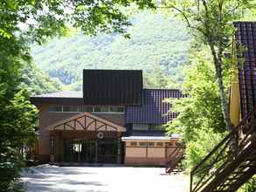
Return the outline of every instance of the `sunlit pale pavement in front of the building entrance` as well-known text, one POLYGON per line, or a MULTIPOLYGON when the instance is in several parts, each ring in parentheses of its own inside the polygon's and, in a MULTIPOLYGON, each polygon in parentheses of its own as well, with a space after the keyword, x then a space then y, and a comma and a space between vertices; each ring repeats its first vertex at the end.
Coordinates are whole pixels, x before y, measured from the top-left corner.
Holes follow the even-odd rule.
POLYGON ((163 175, 164 168, 53 167, 24 172, 29 192, 187 192, 184 175, 163 175))

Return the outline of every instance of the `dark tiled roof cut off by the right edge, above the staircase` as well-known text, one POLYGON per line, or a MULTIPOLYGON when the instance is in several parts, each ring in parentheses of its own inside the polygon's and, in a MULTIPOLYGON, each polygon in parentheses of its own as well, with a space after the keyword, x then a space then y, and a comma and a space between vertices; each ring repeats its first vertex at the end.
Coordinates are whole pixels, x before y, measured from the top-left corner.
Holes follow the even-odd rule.
POLYGON ((244 117, 256 104, 256 22, 235 22, 238 45, 246 48, 239 53, 239 87, 241 113, 244 117))

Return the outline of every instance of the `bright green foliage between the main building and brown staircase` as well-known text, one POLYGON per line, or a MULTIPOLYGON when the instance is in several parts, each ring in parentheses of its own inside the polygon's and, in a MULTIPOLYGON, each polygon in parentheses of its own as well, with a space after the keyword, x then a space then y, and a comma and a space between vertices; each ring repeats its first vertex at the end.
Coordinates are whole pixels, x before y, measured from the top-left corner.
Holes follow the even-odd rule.
POLYGON ((209 50, 192 51, 190 63, 184 69, 183 81, 183 92, 189 97, 169 100, 173 104, 172 111, 178 116, 167 125, 169 134, 178 133, 183 138, 186 146, 184 163, 188 170, 197 165, 226 134, 209 50))

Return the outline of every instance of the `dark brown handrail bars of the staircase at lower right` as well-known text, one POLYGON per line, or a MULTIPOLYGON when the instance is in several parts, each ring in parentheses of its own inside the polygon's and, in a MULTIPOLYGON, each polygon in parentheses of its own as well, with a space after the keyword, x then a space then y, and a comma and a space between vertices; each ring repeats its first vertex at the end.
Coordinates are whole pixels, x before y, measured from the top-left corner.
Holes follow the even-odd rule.
MULTIPOLYGON (((250 113, 248 113, 246 115, 246 117, 243 118, 243 120, 241 120, 239 122, 238 126, 234 127, 232 129, 232 132, 230 134, 227 134, 225 136, 225 138, 222 141, 220 141, 218 143, 218 145, 216 147, 214 147, 211 150, 211 152, 204 157, 204 159, 202 161, 200 161, 194 168, 192 168, 192 170, 190 172, 190 192, 198 191, 198 189, 201 189, 205 183, 209 182, 211 180, 211 178, 214 177, 214 175, 211 174, 207 179, 204 179, 205 176, 209 175, 209 171, 211 170, 211 168, 214 167, 214 165, 216 165, 220 161, 225 160, 225 163, 221 164, 220 167, 217 168, 215 174, 219 173, 223 168, 225 168, 225 164, 228 163, 228 161, 230 161, 230 159, 233 156, 231 151, 227 151, 227 149, 230 149, 229 144, 232 141, 232 136, 235 134, 238 134, 240 131, 243 131, 244 126, 250 124, 252 122, 251 120, 253 118, 255 118, 255 115, 256 115, 256 107, 254 107, 253 110, 250 113), (220 150, 220 152, 219 152, 219 150, 220 150), (220 155, 223 153, 226 153, 227 155, 225 155, 225 156, 220 155), (218 155, 214 155, 214 154, 218 154, 218 155), (220 159, 221 158, 220 156, 222 156, 222 159, 220 159), (212 157, 215 157, 213 159, 213 161, 211 161, 212 157), (209 161, 211 161, 211 162, 209 162, 209 161), (208 166, 206 165, 207 168, 201 168, 202 166, 205 165, 206 162, 208 162, 208 164, 210 164, 210 165, 208 165, 208 166), (195 185, 195 188, 193 188, 193 176, 195 176, 197 174, 203 174, 203 176, 201 177, 201 179, 199 179, 199 181, 195 185)), ((247 133, 246 136, 239 142, 239 150, 241 150, 245 146, 245 144, 248 140, 249 134, 252 134, 252 133, 247 133)))

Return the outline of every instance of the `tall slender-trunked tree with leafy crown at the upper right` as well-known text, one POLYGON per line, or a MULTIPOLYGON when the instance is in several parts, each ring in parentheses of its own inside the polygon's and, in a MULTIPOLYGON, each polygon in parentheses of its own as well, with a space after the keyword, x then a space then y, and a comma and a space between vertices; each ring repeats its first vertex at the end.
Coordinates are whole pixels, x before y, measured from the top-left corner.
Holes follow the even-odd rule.
MULTIPOLYGON (((208 45, 215 67, 216 79, 222 112, 226 128, 232 132, 227 93, 223 82, 223 69, 231 63, 225 58, 225 53, 232 49, 232 36, 235 29, 232 21, 243 17, 246 10, 255 6, 250 0, 167 0, 164 8, 174 10, 183 18, 191 33, 198 42, 208 45)), ((232 150, 236 152, 236 141, 232 140, 232 150)))

